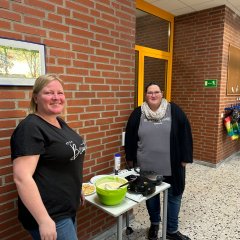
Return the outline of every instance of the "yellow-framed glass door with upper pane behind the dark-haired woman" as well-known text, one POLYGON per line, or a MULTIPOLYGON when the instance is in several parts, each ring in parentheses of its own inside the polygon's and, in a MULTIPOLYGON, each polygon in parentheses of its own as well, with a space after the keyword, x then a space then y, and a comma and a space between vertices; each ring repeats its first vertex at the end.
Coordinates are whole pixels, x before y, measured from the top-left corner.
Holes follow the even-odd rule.
POLYGON ((145 86, 157 82, 171 99, 173 15, 144 1, 136 1, 136 96, 144 101, 145 86))

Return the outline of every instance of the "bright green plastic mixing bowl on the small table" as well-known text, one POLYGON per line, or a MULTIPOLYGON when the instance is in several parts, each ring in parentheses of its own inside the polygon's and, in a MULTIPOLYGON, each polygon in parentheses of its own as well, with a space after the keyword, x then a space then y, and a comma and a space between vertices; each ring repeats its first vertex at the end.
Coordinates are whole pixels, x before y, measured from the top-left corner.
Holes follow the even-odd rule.
POLYGON ((127 185, 119 189, 103 189, 98 187, 99 184, 113 182, 113 181, 123 184, 127 182, 127 179, 116 176, 116 175, 109 175, 109 176, 99 178, 95 182, 98 198, 100 202, 104 205, 108 205, 108 206, 117 205, 121 203, 126 196, 127 185))

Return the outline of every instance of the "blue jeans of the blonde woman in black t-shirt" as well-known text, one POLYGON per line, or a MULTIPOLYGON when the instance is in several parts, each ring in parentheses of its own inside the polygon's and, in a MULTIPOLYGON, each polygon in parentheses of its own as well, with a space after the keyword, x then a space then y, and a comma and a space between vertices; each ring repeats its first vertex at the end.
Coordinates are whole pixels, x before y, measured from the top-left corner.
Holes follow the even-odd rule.
MULTIPOLYGON (((65 218, 56 222, 57 240, 78 240, 75 219, 65 218)), ((39 230, 28 230, 33 240, 41 240, 39 230)))

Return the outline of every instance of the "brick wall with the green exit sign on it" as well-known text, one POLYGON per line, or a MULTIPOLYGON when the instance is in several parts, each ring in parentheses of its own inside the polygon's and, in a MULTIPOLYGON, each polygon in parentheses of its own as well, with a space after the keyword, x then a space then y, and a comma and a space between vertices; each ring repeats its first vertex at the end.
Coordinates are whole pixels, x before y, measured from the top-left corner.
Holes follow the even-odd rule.
POLYGON ((223 127, 221 114, 236 97, 226 96, 228 44, 239 44, 239 17, 220 6, 176 17, 172 100, 187 113, 194 159, 217 164, 239 150, 223 127), (204 87, 217 79, 217 88, 204 87))

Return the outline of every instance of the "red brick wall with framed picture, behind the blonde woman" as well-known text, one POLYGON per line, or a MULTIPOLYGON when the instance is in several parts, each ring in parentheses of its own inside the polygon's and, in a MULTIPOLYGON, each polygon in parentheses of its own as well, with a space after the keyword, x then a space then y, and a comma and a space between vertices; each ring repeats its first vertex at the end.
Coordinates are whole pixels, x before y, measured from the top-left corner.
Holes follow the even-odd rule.
MULTIPOLYGON (((113 170, 134 104, 135 2, 16 0, 0 2, 0 37, 46 45, 46 69, 65 82, 66 120, 87 142, 84 181, 113 170)), ((17 220, 9 139, 27 114, 31 87, 0 86, 0 239, 29 239, 17 220)), ((86 205, 80 239, 115 219, 86 205)))

